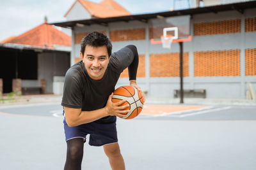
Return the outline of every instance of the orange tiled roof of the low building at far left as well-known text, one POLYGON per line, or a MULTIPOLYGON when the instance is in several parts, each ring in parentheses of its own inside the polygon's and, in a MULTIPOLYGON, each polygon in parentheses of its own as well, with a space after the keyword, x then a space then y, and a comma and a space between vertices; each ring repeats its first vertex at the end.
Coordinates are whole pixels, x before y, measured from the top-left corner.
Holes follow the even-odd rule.
POLYGON ((4 39, 1 43, 54 48, 56 45, 71 46, 71 37, 44 22, 20 36, 4 39))

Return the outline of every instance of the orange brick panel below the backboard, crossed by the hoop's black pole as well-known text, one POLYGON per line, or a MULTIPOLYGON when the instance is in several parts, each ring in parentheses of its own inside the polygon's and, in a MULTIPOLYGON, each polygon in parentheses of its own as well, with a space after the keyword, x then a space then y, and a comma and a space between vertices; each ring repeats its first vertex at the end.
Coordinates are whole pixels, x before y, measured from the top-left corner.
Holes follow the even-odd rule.
MULTIPOLYGON (((150 77, 180 76, 179 53, 150 55, 150 77)), ((183 53, 183 76, 189 76, 188 52, 183 53)))

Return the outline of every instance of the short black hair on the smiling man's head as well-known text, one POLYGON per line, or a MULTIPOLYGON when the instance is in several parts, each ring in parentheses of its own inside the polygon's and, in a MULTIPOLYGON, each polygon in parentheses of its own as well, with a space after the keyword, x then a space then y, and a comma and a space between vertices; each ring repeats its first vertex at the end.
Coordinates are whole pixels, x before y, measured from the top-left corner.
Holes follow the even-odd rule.
POLYGON ((81 53, 84 55, 84 50, 86 45, 93 46, 93 47, 98 47, 98 46, 104 46, 106 45, 107 50, 108 50, 108 56, 111 56, 112 53, 112 43, 109 40, 107 36, 104 34, 94 31, 85 36, 82 41, 81 41, 81 53))

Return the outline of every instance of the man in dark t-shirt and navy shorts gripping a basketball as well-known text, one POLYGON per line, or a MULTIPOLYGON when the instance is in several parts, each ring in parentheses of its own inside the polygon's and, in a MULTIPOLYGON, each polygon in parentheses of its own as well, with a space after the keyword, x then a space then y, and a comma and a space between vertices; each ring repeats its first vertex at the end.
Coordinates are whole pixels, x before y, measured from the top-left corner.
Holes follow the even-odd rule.
POLYGON ((112 103, 111 97, 122 71, 128 67, 130 85, 136 85, 138 52, 136 46, 125 46, 111 55, 111 41, 92 32, 81 42, 81 61, 68 69, 65 76, 63 121, 67 141, 65 170, 81 169, 86 135, 89 144, 103 146, 113 170, 125 169, 116 135, 116 116, 124 117, 129 106, 125 101, 112 103))

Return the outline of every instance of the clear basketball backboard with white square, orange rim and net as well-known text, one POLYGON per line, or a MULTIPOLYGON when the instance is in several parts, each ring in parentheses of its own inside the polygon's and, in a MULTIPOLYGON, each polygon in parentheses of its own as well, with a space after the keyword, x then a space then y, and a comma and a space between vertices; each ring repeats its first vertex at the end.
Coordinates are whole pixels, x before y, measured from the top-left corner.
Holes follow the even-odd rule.
POLYGON ((163 48, 170 48, 172 42, 191 41, 190 16, 158 16, 150 20, 150 39, 152 44, 162 43, 163 48))

